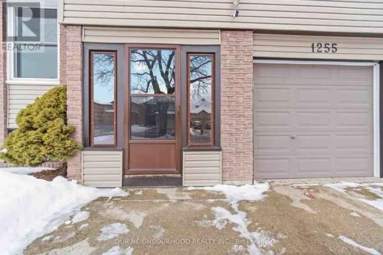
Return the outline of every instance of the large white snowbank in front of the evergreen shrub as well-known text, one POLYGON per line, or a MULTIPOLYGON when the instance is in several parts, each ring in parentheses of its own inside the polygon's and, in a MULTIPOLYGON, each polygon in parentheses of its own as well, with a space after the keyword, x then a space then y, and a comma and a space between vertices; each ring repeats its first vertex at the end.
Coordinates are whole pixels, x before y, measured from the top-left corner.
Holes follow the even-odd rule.
POLYGON ((121 189, 83 187, 60 176, 47 182, 2 171, 0 194, 0 254, 21 253, 98 197, 127 195, 121 189))

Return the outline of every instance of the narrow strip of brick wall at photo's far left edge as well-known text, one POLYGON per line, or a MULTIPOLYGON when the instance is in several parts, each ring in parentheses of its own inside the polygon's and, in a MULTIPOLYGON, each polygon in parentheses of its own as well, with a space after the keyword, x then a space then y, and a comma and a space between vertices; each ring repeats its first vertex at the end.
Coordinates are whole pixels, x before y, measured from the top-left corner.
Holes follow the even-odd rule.
POLYGON ((2 38, 0 48, 0 146, 4 142, 7 135, 7 103, 8 103, 8 87, 7 80, 7 50, 6 50, 6 2, 0 1, 0 35, 2 38))

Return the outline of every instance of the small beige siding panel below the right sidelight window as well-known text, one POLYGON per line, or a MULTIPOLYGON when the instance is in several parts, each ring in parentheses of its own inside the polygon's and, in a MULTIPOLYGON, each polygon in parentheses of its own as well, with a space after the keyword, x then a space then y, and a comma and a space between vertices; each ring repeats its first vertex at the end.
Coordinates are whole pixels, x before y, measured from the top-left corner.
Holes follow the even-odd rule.
POLYGON ((184 151, 183 186, 214 186, 222 183, 221 151, 184 151))

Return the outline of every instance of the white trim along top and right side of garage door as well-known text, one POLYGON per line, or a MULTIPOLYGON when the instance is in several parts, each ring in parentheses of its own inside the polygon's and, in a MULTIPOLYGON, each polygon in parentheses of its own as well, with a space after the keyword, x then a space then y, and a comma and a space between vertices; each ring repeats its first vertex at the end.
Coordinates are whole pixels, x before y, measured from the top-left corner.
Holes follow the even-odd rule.
POLYGON ((352 65, 373 67, 373 119, 374 119, 374 177, 380 177, 380 117, 379 117, 379 63, 377 62, 336 62, 336 61, 295 61, 254 59, 255 64, 296 64, 296 65, 352 65))

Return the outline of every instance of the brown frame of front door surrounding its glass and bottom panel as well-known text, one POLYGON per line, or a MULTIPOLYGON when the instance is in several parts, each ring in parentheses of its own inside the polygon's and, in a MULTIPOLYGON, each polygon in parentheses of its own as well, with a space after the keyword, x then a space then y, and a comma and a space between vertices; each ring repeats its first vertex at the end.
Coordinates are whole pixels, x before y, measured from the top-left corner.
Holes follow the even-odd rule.
MULTIPOLYGON (((169 45, 169 44, 125 44, 124 45, 124 64, 125 64, 125 75, 124 83, 126 84, 125 89, 125 104, 124 104, 124 133, 126 136, 125 141, 125 164, 124 164, 124 174, 179 174, 181 173, 181 115, 180 115, 180 105, 181 105, 181 47, 180 45, 169 45), (175 49, 176 50, 176 90, 175 90, 175 101, 176 101, 176 139, 172 140, 145 140, 145 139, 130 139, 130 49, 131 48, 148 48, 148 49, 175 49), (151 144, 165 144, 165 143, 175 143, 176 144, 176 171, 151 171, 142 170, 142 171, 129 171, 129 145, 137 143, 151 143, 151 144)), ((150 95, 147 95, 150 96, 150 95)))

